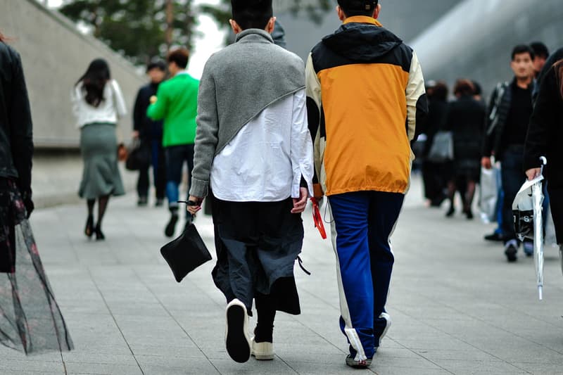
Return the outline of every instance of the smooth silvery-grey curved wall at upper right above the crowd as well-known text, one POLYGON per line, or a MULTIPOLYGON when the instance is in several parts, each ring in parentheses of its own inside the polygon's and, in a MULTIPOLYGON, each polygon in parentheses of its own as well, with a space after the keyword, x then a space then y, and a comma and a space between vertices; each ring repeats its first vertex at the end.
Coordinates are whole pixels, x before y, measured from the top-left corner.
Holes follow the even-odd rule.
POLYGON ((517 44, 563 46, 561 0, 464 0, 412 43, 427 79, 480 82, 486 94, 510 80, 517 44))

